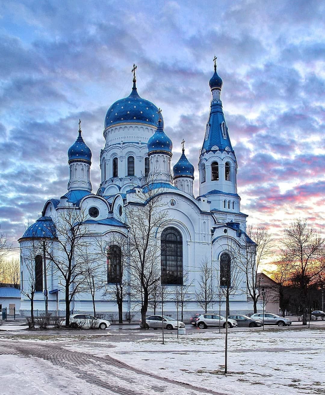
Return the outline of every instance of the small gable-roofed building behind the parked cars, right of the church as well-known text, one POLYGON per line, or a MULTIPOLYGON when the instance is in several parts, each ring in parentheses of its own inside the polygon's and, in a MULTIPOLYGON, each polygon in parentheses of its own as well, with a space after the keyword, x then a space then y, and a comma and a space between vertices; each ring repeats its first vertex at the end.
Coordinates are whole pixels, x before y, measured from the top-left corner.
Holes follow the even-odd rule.
POLYGON ((258 310, 263 310, 264 304, 264 311, 279 314, 279 284, 265 273, 257 273, 256 286, 260 292, 258 310))

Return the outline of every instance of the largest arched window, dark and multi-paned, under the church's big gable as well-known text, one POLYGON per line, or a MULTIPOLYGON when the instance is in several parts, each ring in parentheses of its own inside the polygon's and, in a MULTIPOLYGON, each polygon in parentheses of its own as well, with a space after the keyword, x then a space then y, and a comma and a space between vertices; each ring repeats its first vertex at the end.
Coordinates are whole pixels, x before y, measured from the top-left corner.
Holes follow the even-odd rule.
POLYGON ((161 233, 161 283, 183 285, 183 238, 175 228, 161 233))

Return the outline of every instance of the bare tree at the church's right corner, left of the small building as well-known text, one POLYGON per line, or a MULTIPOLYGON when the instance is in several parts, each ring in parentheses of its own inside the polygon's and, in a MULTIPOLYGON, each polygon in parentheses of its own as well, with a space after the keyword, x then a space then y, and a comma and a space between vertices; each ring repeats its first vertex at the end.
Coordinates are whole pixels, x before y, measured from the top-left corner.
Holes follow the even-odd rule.
POLYGON ((265 226, 247 228, 247 236, 241 237, 243 248, 239 256, 238 267, 245 273, 247 293, 253 300, 254 313, 257 312, 258 273, 261 263, 271 256, 274 239, 265 226))

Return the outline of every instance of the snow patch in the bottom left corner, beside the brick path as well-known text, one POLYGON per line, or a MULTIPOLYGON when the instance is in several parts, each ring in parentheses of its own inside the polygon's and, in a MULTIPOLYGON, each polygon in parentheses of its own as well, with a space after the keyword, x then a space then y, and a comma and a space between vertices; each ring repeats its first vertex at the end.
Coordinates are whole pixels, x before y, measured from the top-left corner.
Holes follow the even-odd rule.
POLYGON ((98 395, 113 394, 98 389, 77 377, 76 374, 49 361, 16 355, 0 355, 1 395, 98 395))

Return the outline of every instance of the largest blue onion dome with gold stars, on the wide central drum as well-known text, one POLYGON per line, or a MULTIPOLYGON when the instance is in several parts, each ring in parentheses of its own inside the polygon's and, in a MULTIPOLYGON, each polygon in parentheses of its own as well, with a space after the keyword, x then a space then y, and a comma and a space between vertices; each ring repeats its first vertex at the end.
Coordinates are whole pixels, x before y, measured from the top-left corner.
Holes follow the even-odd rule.
POLYGON ((158 108, 149 100, 140 98, 133 80, 132 92, 126 98, 117 100, 107 110, 105 129, 119 123, 140 122, 158 126, 158 108))

